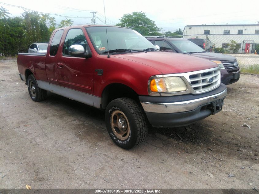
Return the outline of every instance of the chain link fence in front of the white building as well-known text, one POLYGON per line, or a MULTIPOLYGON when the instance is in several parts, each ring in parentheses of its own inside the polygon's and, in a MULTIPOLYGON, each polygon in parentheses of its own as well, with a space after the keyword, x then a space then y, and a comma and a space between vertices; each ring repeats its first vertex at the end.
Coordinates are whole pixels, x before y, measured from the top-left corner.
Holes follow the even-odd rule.
POLYGON ((259 34, 183 35, 209 52, 233 55, 241 66, 259 65, 259 34))

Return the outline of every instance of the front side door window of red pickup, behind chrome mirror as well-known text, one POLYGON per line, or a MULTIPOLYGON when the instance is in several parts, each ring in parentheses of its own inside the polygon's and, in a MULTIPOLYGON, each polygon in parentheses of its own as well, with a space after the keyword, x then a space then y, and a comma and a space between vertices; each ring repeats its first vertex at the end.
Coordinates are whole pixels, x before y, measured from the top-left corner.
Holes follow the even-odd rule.
POLYGON ((67 37, 63 45, 63 55, 71 56, 68 52, 68 49, 73 44, 80 44, 86 50, 87 42, 84 33, 81 29, 70 29, 67 32, 67 37))

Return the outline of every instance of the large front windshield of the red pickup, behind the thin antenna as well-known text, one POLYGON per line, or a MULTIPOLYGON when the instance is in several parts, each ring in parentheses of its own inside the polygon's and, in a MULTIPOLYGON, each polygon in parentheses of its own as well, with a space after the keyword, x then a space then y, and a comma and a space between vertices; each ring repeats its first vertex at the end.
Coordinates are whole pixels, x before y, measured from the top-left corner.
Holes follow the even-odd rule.
MULTIPOLYGON (((105 26, 87 27, 86 31, 99 54, 108 51, 105 26)), ((107 26, 107 37, 109 50, 132 49, 142 51, 147 48, 157 50, 152 43, 135 30, 107 26)))

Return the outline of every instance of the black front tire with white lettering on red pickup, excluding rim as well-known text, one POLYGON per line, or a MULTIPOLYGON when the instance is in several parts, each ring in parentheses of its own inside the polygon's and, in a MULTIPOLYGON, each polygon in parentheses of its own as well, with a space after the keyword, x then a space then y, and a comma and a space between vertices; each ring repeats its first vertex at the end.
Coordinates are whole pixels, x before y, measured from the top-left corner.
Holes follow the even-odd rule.
POLYGON ((111 101, 105 110, 105 123, 114 143, 124 149, 138 146, 144 141, 148 133, 148 121, 143 109, 130 98, 117 98, 111 101), (118 134, 112 130, 112 115, 114 115, 114 112, 122 112, 128 120, 129 135, 127 139, 118 138, 118 134))

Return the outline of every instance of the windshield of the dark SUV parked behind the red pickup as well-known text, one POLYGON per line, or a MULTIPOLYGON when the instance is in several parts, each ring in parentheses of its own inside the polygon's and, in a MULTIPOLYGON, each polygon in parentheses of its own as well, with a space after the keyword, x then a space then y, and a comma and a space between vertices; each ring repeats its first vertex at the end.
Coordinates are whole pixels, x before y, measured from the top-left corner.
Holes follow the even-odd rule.
POLYGON ((206 52, 198 45, 194 44, 189 40, 169 40, 176 48, 178 48, 182 53, 198 53, 206 52))

